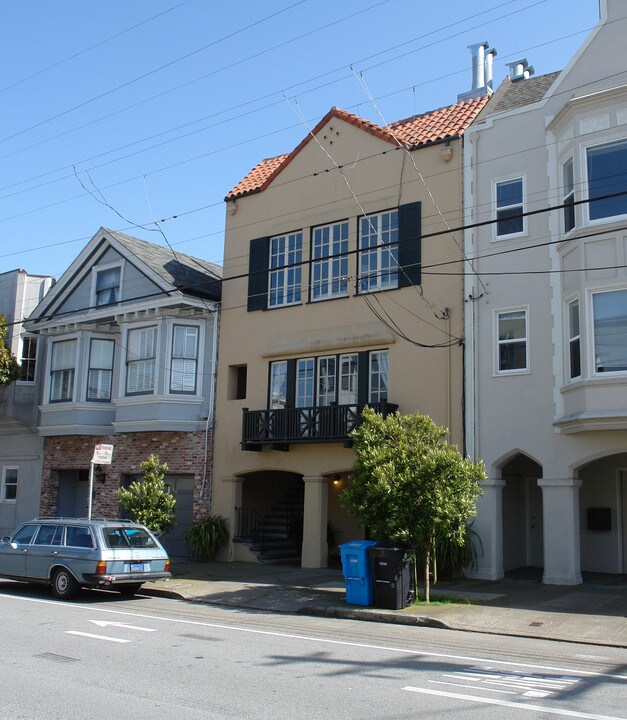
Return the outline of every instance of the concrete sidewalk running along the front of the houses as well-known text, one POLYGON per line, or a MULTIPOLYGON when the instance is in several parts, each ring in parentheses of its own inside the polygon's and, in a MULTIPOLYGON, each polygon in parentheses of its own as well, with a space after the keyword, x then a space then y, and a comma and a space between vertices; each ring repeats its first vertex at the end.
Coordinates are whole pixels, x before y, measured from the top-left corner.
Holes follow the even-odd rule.
POLYGON ((172 561, 172 580, 147 594, 267 612, 325 615, 467 632, 627 647, 627 576, 584 574, 577 586, 542 585, 537 576, 497 581, 443 580, 432 588, 459 602, 403 610, 346 603, 340 570, 256 563, 172 561))

